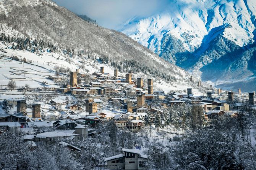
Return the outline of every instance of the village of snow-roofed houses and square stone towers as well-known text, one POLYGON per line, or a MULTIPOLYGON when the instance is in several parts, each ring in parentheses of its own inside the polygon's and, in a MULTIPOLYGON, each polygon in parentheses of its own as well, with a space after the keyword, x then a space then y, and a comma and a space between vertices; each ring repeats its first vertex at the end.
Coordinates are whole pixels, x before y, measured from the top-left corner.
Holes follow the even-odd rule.
MULTIPOLYGON (((215 116, 237 118, 242 105, 247 103, 252 108, 254 106, 255 92, 242 93, 241 89, 222 91, 212 85, 205 87, 205 95, 193 95, 193 88, 187 88, 186 93, 154 91, 153 78, 134 79, 132 71, 125 73, 125 76, 119 75, 117 69, 112 71, 114 76, 105 73, 104 67, 92 74, 76 69, 70 72, 70 83, 62 88, 58 84, 66 75, 50 75, 48 79, 57 86, 47 89, 50 94, 47 99, 39 95, 34 99, 24 97, 2 100, 0 132, 21 131, 24 133, 24 141, 31 143, 34 148, 42 146, 42 143, 58 141, 79 153, 80 148, 61 140, 76 142, 94 138, 101 133, 95 127, 108 121, 113 121, 118 129, 137 133, 148 126, 158 130, 159 121, 165 124, 164 119, 158 119, 177 105, 200 108, 200 114, 203 114, 206 122, 215 116)), ((201 81, 194 81, 193 76, 190 82, 202 86, 201 81)), ((43 91, 43 88, 28 88, 26 91, 43 91)), ((180 134, 169 138, 176 141, 181 139, 180 134)), ((123 154, 106 157, 99 166, 107 169, 144 169, 150 157, 143 150, 145 148, 135 145, 133 148, 123 148, 123 154)))

